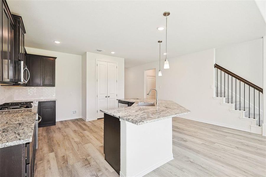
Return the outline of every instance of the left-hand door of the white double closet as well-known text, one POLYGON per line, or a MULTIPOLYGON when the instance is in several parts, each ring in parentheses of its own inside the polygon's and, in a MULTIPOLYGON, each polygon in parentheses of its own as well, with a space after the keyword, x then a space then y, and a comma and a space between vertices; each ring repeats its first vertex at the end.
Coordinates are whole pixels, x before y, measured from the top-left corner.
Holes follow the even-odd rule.
POLYGON ((97 61, 97 119, 103 118, 100 109, 107 109, 107 62, 97 61))

